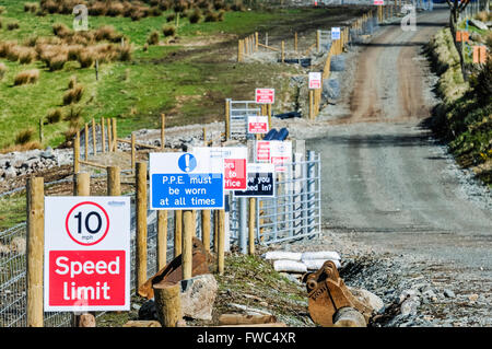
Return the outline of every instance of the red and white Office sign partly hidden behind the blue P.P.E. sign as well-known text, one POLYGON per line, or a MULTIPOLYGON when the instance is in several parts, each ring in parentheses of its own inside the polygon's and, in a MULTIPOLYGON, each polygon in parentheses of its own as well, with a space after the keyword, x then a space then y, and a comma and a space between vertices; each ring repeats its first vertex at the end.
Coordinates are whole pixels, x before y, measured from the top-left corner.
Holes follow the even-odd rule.
POLYGON ((224 161, 224 190, 245 190, 248 187, 246 163, 248 149, 246 147, 197 147, 194 154, 208 153, 211 159, 224 161))

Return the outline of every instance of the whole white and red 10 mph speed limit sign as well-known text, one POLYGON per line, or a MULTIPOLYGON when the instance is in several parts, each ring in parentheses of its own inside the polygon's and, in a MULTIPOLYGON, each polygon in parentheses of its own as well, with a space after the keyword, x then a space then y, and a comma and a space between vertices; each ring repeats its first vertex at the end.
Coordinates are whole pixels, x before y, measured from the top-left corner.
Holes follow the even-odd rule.
POLYGON ((130 198, 45 197, 45 312, 130 310, 130 198))

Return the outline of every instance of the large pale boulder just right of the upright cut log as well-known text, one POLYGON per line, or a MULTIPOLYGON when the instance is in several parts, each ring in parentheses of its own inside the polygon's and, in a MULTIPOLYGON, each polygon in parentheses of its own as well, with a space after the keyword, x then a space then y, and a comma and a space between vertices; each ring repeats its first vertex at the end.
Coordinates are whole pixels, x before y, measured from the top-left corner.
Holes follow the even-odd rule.
POLYGON ((181 312, 197 319, 212 319, 213 303, 219 286, 211 274, 181 280, 181 312))

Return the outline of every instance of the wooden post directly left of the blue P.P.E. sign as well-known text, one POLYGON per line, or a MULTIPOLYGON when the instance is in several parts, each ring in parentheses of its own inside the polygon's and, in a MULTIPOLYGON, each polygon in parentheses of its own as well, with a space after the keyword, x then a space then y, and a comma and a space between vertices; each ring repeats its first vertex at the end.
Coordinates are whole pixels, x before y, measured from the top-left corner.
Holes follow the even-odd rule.
POLYGON ((138 162, 136 172, 137 206, 137 292, 147 281, 147 163, 138 162))

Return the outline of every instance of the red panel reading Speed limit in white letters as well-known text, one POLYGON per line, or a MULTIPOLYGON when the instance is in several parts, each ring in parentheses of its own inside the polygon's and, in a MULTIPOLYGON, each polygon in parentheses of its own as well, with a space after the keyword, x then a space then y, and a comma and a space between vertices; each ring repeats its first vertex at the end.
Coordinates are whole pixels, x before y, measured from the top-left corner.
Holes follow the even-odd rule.
POLYGON ((125 251, 50 251, 50 306, 125 305, 125 251))

